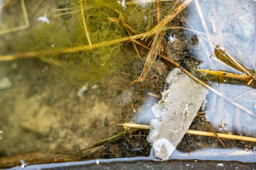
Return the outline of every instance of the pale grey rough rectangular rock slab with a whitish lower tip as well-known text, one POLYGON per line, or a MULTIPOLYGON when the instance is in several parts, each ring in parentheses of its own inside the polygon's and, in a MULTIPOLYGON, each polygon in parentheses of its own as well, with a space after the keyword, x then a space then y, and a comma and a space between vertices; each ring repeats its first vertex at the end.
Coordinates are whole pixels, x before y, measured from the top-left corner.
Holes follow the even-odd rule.
POLYGON ((155 119, 150 122, 148 142, 154 156, 167 160, 175 150, 197 115, 208 89, 192 80, 178 68, 166 78, 162 99, 151 110, 155 119))

